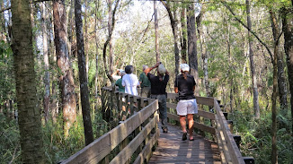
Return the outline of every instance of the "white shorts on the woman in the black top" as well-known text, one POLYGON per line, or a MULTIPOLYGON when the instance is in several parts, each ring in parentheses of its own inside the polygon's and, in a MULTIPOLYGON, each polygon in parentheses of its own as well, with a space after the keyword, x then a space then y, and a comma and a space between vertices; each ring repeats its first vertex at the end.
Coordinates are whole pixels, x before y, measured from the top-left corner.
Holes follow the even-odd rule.
POLYGON ((177 115, 186 116, 187 114, 198 113, 196 99, 182 99, 177 103, 177 115))

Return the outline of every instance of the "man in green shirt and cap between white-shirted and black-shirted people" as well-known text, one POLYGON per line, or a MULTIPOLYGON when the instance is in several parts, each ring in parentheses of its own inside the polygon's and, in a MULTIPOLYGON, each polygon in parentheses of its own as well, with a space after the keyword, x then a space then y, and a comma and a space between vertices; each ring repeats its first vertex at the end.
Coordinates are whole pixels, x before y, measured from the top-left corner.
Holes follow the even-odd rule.
POLYGON ((140 96, 144 98, 149 98, 151 94, 151 82, 149 82, 145 70, 148 68, 147 65, 142 65, 142 71, 143 73, 140 73, 139 75, 139 83, 140 83, 140 96))

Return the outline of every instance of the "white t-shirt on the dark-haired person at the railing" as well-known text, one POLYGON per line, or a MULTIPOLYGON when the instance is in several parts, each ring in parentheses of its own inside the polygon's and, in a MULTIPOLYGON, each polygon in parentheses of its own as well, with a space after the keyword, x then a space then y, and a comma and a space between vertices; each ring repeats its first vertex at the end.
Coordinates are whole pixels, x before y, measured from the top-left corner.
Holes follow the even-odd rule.
POLYGON ((122 77, 122 86, 125 87, 126 93, 138 96, 138 90, 137 90, 138 85, 139 85, 139 82, 138 82, 137 75, 131 73, 131 74, 125 74, 122 77))

